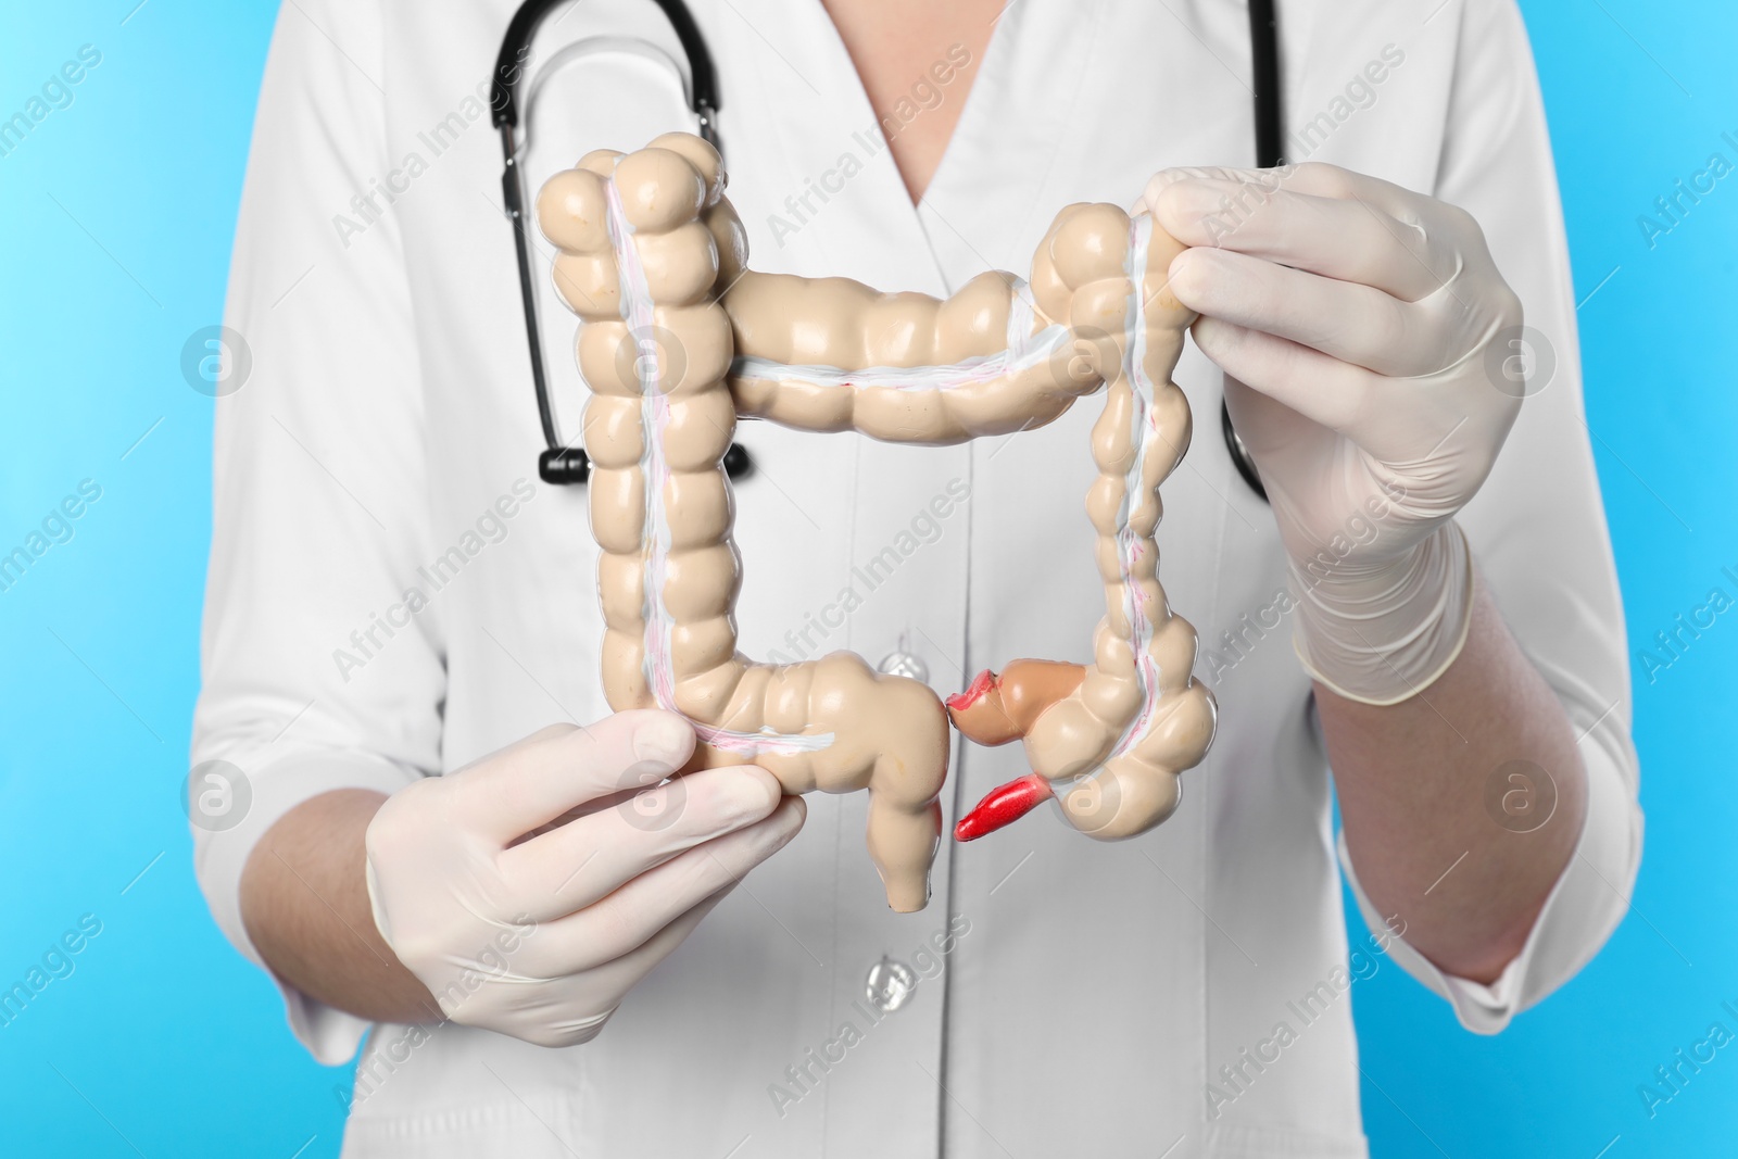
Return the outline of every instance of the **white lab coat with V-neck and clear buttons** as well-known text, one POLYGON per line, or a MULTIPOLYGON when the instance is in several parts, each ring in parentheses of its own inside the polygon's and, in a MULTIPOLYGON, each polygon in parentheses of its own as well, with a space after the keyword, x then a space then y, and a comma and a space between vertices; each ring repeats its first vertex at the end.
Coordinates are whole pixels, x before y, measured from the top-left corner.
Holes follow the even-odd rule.
MULTIPOLYGON (((535 474, 499 142, 476 103, 514 3, 297 0, 278 17, 229 287, 254 368, 217 403, 193 754, 250 780, 245 822, 198 831, 196 855, 217 923, 255 961, 236 883, 287 808, 342 785, 393 791, 608 711, 586 495, 535 474), (377 193, 370 221, 353 196, 381 186, 395 200, 377 193), (401 606, 412 589, 415 613, 401 606)), ((650 5, 626 3, 574 9, 553 35, 598 30, 600 7, 667 40, 650 5)), ((947 294, 985 268, 1027 271, 1069 202, 1126 205, 1156 169, 1251 162, 1237 0, 1010 5, 919 209, 819 3, 702 0, 695 14, 723 85, 730 195, 763 269, 947 294), (826 177, 839 189, 798 221, 786 196, 845 155, 860 172, 826 177)), ((930 909, 900 916, 862 846, 864 796, 810 798, 798 839, 596 1041, 375 1027, 346 1156, 1342 1159, 1364 1154, 1354 978, 1397 964, 1493 1032, 1594 954, 1641 855, 1637 768, 1521 19, 1512 0, 1300 0, 1281 5, 1281 31, 1286 123, 1312 125, 1291 158, 1472 210, 1556 353, 1462 520, 1583 737, 1592 784, 1580 855, 1507 975, 1483 987, 1403 940, 1347 945, 1328 768, 1276 610, 1279 540, 1222 445, 1220 375, 1191 348, 1177 381, 1197 429, 1164 485, 1163 579, 1199 629, 1220 732, 1170 822, 1100 844, 1039 813, 949 843, 930 909), (1385 59, 1373 83, 1366 68, 1385 59), (919 978, 886 1015, 862 1001, 883 957, 919 978)), ((605 103, 565 101, 596 137, 563 144, 563 160, 681 127, 643 123, 671 97, 645 66, 617 64, 627 71, 594 64, 619 85, 605 103), (633 68, 640 80, 620 80, 633 68)), ((744 426, 761 464, 737 487, 744 650, 902 650, 944 693, 1013 657, 1088 659, 1104 610, 1083 511, 1100 405, 949 448, 744 426), (925 521, 951 483, 970 500, 925 521), (869 591, 853 566, 888 546, 900 565, 869 591), (839 619, 827 608, 852 586, 862 606, 815 627, 839 619)), ((956 752, 947 824, 1022 772, 1017 745, 956 752)), ((322 1062, 351 1056, 367 1030, 294 990, 285 1001, 322 1062)))

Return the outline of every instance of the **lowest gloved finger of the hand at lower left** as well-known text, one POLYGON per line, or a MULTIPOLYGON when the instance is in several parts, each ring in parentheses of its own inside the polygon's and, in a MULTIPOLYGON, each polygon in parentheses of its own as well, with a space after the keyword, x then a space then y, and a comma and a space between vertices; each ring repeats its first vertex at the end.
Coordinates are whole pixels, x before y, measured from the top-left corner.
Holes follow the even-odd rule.
POLYGON ((558 978, 629 954, 784 848, 803 827, 805 813, 801 798, 784 798, 765 820, 678 853, 577 914, 541 924, 514 970, 558 978))

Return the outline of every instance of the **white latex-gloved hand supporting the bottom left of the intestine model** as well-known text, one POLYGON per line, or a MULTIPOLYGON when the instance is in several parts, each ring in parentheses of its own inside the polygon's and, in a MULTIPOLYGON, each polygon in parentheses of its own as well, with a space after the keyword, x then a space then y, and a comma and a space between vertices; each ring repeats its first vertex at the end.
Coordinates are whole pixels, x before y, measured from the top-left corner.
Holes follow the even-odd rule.
POLYGON ((395 792, 367 832, 381 937, 454 1022, 539 1046, 593 1039, 803 827, 801 798, 749 765, 647 787, 692 752, 680 716, 617 712, 395 792))

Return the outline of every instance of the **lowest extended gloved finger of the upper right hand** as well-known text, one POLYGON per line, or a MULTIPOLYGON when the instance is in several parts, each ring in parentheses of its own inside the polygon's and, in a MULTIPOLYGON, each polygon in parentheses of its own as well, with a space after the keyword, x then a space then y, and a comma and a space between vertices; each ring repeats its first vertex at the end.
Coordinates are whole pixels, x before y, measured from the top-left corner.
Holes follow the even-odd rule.
POLYGON ((1234 321, 1197 318, 1196 346, 1227 375, 1305 419, 1357 438, 1380 379, 1363 367, 1234 321))

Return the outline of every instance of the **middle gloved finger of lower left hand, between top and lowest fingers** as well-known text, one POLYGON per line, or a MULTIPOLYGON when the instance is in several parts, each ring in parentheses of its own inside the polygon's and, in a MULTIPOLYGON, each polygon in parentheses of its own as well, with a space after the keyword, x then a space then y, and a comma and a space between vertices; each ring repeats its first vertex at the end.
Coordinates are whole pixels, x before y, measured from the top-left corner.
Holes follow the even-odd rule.
POLYGON ((580 911, 685 850, 765 820, 782 789, 766 770, 735 765, 619 796, 614 808, 501 853, 495 864, 514 912, 551 921, 580 911))

